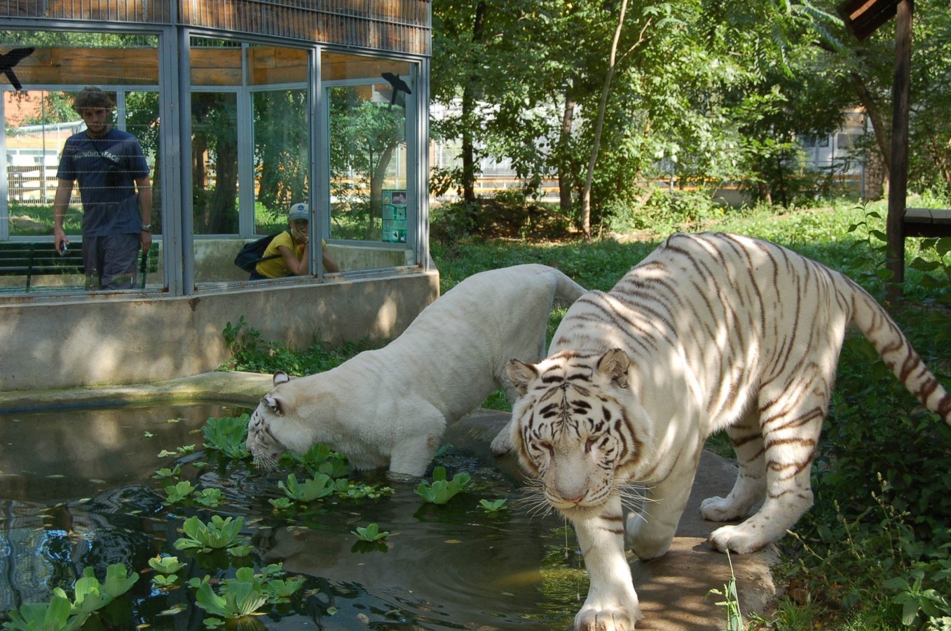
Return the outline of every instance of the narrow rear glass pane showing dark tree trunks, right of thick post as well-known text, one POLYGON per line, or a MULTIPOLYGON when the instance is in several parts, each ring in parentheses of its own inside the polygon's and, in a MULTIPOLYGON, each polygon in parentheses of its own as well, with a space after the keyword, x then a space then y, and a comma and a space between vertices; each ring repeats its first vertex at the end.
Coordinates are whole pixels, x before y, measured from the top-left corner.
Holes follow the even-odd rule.
POLYGON ((238 95, 192 92, 195 234, 238 233, 238 95))

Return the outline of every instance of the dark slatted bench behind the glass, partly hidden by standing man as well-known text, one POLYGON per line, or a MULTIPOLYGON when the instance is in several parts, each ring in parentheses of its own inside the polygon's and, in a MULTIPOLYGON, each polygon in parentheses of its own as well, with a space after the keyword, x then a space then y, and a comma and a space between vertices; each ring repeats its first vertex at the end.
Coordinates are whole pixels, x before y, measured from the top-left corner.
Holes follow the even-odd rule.
MULTIPOLYGON (((142 252, 139 260, 139 288, 146 287, 148 272, 159 269, 159 244, 142 252)), ((83 245, 72 241, 66 254, 60 254, 48 241, 4 241, 0 242, 0 276, 23 276, 26 286, 3 287, 5 292, 29 293, 34 276, 59 276, 64 274, 84 274, 83 245)), ((46 289, 46 287, 44 287, 46 289)))

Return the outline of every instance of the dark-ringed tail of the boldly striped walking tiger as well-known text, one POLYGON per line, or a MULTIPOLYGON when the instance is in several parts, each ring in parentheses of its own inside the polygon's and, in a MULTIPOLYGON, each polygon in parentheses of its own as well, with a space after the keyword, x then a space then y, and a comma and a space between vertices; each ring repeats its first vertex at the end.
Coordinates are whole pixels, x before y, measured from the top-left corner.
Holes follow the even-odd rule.
POLYGON ((853 288, 852 324, 875 346, 883 362, 922 405, 951 425, 951 396, 883 306, 862 287, 846 278, 853 288))

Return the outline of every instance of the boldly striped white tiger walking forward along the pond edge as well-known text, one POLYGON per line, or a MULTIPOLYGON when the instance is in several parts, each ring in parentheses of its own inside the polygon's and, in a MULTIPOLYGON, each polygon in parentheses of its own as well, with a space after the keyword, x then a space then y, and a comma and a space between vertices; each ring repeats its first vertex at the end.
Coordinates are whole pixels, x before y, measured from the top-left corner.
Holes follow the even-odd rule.
POLYGON ((575 628, 633 628, 622 489, 648 503, 627 517, 641 559, 667 552, 709 434, 727 429, 739 475, 705 519, 745 522, 710 544, 747 553, 774 542, 812 505, 809 468, 847 325, 951 424, 951 397, 882 306, 843 274, 747 237, 674 235, 611 292, 578 300, 551 355, 513 361, 523 395, 512 438, 545 498, 572 520, 591 576, 575 628))

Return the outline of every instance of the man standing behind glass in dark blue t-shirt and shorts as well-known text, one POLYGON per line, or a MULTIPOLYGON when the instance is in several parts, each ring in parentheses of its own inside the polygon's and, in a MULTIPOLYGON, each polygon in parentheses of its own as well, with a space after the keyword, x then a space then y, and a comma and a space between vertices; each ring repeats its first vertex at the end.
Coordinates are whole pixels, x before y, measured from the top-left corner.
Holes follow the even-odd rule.
POLYGON ((129 289, 138 278, 139 248, 152 245, 152 187, 146 156, 130 133, 109 124, 115 104, 98 88, 84 88, 73 100, 86 130, 63 147, 53 203, 57 251, 69 243, 63 218, 73 182, 83 203, 83 265, 87 289, 129 289))

